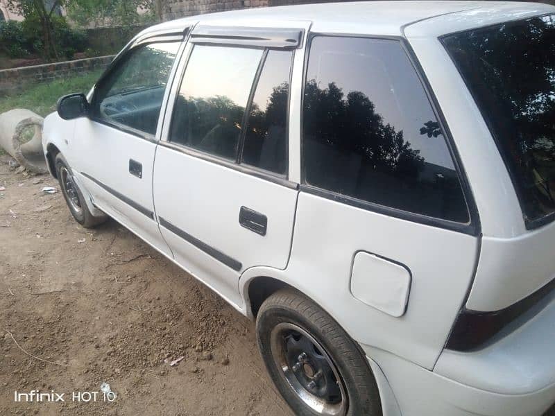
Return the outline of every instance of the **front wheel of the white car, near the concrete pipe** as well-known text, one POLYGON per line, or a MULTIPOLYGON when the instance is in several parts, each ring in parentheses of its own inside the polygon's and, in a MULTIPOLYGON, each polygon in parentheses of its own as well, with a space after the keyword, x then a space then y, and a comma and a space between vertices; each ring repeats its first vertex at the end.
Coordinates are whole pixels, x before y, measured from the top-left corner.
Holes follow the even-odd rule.
POLYGON ((85 228, 93 228, 96 225, 104 223, 108 218, 106 216, 93 216, 85 198, 83 198, 83 193, 71 179, 72 173, 71 168, 65 161, 61 153, 56 155, 56 175, 58 176, 58 182, 60 182, 60 189, 62 190, 62 195, 64 196, 67 207, 74 216, 75 220, 83 225, 85 228))

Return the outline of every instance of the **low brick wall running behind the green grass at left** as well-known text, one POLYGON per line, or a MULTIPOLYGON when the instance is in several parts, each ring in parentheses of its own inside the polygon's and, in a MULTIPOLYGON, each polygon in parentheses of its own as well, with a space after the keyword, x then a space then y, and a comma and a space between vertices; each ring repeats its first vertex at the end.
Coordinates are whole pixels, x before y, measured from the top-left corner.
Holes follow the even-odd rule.
POLYGON ((0 96, 21 88, 29 83, 46 83, 56 78, 76 76, 80 73, 103 69, 108 66, 114 55, 99 58, 78 59, 54 64, 34 65, 2 69, 0 71, 0 96))

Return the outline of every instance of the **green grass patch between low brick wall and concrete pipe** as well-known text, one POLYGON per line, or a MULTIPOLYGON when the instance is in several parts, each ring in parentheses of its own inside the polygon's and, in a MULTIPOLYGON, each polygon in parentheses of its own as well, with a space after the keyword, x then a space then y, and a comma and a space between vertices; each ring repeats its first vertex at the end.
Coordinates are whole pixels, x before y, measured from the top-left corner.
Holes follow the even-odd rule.
POLYGON ((14 108, 26 108, 44 117, 56 110, 56 102, 61 96, 72 92, 87 94, 101 72, 92 71, 80 76, 30 85, 28 88, 22 85, 21 92, 0 96, 0 113, 14 108))

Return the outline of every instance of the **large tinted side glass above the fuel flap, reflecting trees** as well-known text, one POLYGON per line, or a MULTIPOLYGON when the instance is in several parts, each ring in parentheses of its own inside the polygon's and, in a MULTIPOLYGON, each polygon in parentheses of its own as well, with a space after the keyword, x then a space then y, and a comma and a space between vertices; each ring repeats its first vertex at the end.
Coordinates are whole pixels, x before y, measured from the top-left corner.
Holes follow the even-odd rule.
POLYGON ((398 41, 315 37, 303 132, 308 184, 468 222, 443 132, 398 41))

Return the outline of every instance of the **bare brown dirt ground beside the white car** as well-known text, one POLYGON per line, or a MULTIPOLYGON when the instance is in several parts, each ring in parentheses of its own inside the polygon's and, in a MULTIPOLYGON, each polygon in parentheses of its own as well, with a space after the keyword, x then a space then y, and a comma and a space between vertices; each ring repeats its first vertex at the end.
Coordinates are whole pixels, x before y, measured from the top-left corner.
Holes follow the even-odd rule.
POLYGON ((291 414, 266 375, 253 322, 115 221, 83 229, 56 180, 7 161, 0 157, 0 415, 291 414), (164 363, 180 356, 175 367, 164 363), (114 401, 103 399, 103 382, 114 401), (16 402, 16 390, 65 401, 16 402), (99 393, 85 402, 74 392, 99 393))

